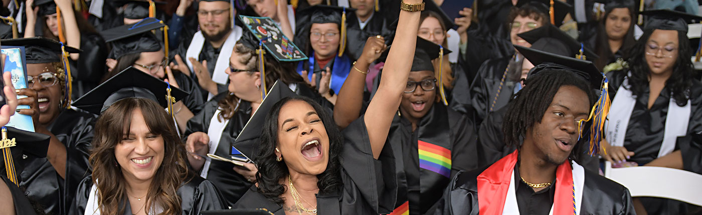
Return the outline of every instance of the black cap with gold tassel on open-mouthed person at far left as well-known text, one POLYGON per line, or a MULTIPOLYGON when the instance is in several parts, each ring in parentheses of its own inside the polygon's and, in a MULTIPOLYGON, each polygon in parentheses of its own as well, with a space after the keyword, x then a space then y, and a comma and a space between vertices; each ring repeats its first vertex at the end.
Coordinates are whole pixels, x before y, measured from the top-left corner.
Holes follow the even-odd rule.
POLYGON ((3 39, 0 41, 3 46, 25 46, 25 55, 27 63, 62 63, 64 84, 63 107, 69 108, 71 103, 72 74, 71 66, 68 63, 69 53, 80 53, 81 50, 65 46, 60 41, 48 39, 46 37, 31 37, 18 39, 3 39))

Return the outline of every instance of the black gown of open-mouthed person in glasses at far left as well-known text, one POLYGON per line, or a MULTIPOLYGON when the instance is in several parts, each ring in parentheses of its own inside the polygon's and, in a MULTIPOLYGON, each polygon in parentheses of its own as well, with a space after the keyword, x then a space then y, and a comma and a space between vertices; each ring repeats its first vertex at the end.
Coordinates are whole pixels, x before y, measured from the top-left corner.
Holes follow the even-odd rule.
POLYGON ((66 147, 66 178, 61 178, 46 157, 23 156, 25 169, 20 186, 29 198, 53 214, 65 214, 82 178, 91 173, 88 157, 92 148, 95 117, 85 112, 63 110, 47 128, 66 147))

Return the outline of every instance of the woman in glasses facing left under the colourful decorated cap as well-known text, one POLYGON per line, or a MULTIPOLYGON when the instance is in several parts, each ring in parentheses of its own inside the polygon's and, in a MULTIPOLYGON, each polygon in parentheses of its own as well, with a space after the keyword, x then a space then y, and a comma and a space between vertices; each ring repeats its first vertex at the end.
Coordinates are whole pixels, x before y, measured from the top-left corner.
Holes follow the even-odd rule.
MULTIPOLYGON (((314 89, 294 73, 294 67, 291 67, 294 62, 279 61, 285 58, 270 52, 267 52, 263 59, 259 59, 256 55, 258 41, 249 30, 244 32, 230 57, 230 68, 227 72, 230 85, 227 92, 220 93, 205 103, 203 110, 187 122, 185 131, 187 150, 191 154, 188 156, 190 167, 220 188, 228 206, 233 206, 241 195, 246 193, 258 169, 253 164, 241 167, 206 156, 213 154, 230 157, 232 142, 239 136, 241 129, 244 129, 246 122, 249 122, 253 112, 256 112, 263 100, 263 93, 270 90, 272 83, 280 80, 287 86, 294 86, 298 95, 326 102, 326 107, 331 111, 329 102, 319 94, 314 94, 314 89), (260 61, 265 64, 263 72, 259 72, 262 69, 258 67, 260 61), (265 77, 261 77, 262 74, 265 74, 265 77)), ((281 40, 272 41, 272 44, 280 42, 281 40)))

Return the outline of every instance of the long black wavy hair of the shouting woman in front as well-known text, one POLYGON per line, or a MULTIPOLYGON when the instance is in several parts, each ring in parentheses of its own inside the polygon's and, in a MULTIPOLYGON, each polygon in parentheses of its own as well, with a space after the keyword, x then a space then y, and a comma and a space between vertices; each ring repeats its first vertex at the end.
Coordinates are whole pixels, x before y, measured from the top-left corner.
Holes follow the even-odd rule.
POLYGON ((293 100, 301 100, 312 105, 314 111, 322 119, 324 129, 326 129, 326 133, 329 136, 329 162, 326 165, 326 170, 322 174, 317 175, 317 179, 319 179, 317 181, 319 194, 324 195, 337 192, 343 185, 339 155, 343 148, 344 138, 336 123, 334 123, 333 117, 324 110, 324 107, 310 100, 310 98, 284 98, 275 103, 268 115, 266 115, 263 123, 263 132, 260 137, 261 143, 253 156, 253 162, 258 166, 258 174, 256 174, 258 191, 268 200, 277 204, 284 204, 285 202, 280 196, 285 192, 286 185, 282 185, 279 182, 290 174, 285 162, 276 161, 275 148, 278 144, 278 117, 283 105, 293 100))

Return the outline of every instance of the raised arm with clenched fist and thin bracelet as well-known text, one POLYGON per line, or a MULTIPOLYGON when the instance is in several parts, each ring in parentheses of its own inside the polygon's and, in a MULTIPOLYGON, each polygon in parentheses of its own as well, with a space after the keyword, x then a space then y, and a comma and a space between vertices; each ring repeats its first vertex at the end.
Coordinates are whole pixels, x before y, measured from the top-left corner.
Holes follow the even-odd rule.
POLYGON ((369 37, 363 53, 351 67, 349 76, 344 81, 334 105, 334 122, 340 129, 344 129, 361 114, 363 103, 363 87, 366 85, 368 67, 376 61, 385 51, 385 40, 382 36, 369 37), (366 73, 364 73, 366 72, 366 73))

